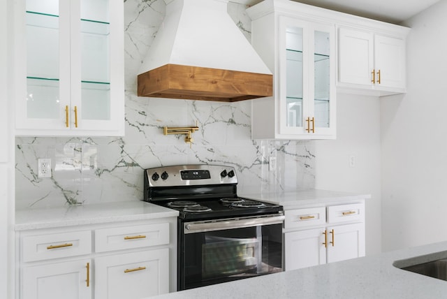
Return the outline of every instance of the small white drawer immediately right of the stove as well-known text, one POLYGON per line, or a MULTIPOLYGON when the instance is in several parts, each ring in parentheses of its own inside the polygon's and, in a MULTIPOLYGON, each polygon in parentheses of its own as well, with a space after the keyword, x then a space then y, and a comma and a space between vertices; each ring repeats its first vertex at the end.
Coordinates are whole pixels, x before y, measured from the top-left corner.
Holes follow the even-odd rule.
POLYGON ((285 214, 286 220, 284 221, 284 228, 324 225, 326 222, 325 207, 288 210, 285 214))

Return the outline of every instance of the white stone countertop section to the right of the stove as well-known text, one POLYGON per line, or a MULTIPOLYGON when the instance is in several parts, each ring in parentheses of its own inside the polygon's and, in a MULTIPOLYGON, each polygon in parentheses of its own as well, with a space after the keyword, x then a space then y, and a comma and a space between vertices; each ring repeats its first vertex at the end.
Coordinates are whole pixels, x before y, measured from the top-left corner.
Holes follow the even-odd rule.
POLYGON ((371 198, 370 194, 353 194, 349 192, 308 189, 280 192, 238 192, 238 196, 277 203, 284 210, 291 210, 303 205, 323 205, 324 203, 342 203, 371 198))

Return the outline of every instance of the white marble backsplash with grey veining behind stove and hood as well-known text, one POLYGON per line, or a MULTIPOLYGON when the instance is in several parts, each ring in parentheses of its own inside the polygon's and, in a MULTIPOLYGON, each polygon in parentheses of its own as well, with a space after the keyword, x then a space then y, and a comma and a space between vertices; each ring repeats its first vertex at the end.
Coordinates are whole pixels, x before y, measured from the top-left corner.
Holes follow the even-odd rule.
MULTIPOLYGON (((249 39, 246 6, 228 13, 249 39)), ((165 14, 163 0, 124 0, 126 135, 122 138, 16 138, 16 207, 142 200, 145 168, 175 164, 234 166, 238 190, 314 187, 312 141, 251 140, 251 101, 219 103, 136 96, 136 75, 165 14), (163 126, 197 122, 194 143, 163 136, 163 126), (268 157, 277 157, 269 171, 268 157), (52 159, 52 177, 38 178, 37 159, 52 159)), ((256 100, 254 100, 256 101, 256 100)))

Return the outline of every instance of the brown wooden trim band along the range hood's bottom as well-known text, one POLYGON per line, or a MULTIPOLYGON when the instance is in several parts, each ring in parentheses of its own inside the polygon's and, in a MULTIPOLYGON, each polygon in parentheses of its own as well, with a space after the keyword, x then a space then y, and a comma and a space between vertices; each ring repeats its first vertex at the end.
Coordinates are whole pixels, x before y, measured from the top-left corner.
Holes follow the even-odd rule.
POLYGON ((138 96, 235 102, 272 96, 273 75, 166 64, 138 75, 138 96))

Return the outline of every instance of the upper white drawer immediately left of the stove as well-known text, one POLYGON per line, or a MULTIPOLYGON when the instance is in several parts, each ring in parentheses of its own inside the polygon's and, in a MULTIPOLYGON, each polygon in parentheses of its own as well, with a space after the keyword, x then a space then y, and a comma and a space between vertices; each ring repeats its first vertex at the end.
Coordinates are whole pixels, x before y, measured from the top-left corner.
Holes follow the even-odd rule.
POLYGON ((145 224, 118 228, 103 228, 95 231, 95 251, 169 244, 169 224, 145 224))

